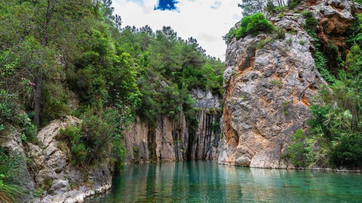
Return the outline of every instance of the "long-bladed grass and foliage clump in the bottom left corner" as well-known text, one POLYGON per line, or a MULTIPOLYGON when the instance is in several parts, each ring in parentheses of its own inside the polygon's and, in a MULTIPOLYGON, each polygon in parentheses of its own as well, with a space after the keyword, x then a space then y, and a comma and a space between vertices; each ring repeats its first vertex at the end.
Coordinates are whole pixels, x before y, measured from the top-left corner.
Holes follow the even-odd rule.
POLYGON ((25 189, 21 186, 24 158, 15 151, 0 147, 0 202, 15 202, 25 189))

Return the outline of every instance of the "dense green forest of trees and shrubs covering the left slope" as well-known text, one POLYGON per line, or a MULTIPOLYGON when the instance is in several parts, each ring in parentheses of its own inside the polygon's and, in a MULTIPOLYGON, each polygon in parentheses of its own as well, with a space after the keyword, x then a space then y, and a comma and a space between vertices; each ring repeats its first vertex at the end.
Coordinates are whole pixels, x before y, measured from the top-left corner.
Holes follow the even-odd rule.
POLYGON ((152 125, 160 114, 177 121, 184 112, 197 125, 189 90, 222 94, 223 62, 171 27, 122 28, 113 10, 110 0, 1 1, 1 136, 10 124, 24 143, 36 144, 38 128, 64 115, 79 117, 81 126, 57 139, 70 146, 73 164, 82 165, 121 161, 122 134, 135 116, 152 125))

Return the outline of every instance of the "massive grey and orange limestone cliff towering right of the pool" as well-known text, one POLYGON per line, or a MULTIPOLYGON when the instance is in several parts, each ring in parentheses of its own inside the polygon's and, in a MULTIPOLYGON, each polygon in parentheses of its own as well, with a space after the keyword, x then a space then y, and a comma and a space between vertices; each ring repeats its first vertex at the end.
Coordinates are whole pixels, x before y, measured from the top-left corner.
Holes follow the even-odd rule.
MULTIPOLYGON (((353 20, 350 4, 354 3, 305 1, 295 9, 314 13, 320 21, 318 36, 327 32, 344 39, 341 34, 353 20)), ((248 35, 228 43, 220 164, 293 168, 280 156, 290 143, 290 135, 299 128, 306 130, 311 98, 321 84, 326 84, 314 64, 314 39, 303 29, 303 16, 291 10, 281 18, 277 14, 267 17, 274 26, 297 33, 286 33, 285 39, 260 49, 256 49, 257 42, 270 34, 248 35)))

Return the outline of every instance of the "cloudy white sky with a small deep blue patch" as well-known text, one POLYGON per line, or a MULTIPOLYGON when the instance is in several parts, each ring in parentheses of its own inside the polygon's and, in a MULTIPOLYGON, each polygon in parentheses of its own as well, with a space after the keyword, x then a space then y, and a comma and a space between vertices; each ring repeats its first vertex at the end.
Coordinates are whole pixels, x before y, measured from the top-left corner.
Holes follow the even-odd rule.
POLYGON ((225 60, 222 36, 241 19, 241 0, 113 0, 122 27, 171 26, 183 39, 196 38, 206 55, 225 60))

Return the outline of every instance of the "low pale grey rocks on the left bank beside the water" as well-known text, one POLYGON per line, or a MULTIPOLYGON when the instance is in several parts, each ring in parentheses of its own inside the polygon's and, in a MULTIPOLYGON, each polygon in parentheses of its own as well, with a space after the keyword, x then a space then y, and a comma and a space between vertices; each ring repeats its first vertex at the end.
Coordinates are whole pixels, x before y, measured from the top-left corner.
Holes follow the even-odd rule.
POLYGON ((71 116, 52 121, 37 134, 37 145, 23 145, 15 128, 0 140, 0 146, 24 156, 23 186, 28 190, 22 202, 83 202, 87 196, 110 189, 112 168, 108 160, 94 163, 91 168, 77 167, 71 163, 70 149, 54 138, 61 128, 79 122, 71 116))

